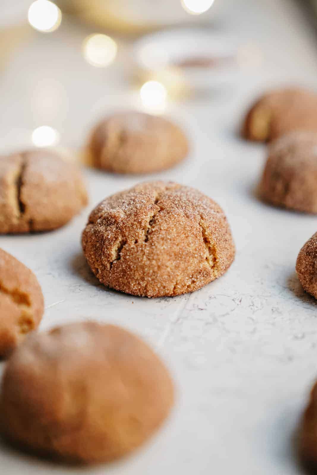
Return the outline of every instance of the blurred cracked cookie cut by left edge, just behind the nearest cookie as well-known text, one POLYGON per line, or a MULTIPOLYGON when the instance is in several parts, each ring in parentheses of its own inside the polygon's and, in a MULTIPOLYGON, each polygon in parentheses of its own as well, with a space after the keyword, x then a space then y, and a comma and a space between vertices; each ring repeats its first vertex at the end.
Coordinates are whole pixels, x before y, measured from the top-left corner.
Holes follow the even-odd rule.
POLYGON ((35 330, 44 312, 41 287, 33 272, 0 249, 0 358, 35 330))

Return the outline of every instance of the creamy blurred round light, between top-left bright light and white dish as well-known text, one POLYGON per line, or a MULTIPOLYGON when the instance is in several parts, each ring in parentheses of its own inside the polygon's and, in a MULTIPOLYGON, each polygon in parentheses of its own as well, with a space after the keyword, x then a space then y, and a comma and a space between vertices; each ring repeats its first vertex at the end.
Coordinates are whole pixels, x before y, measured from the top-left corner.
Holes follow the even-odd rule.
POLYGON ((83 53, 89 64, 105 67, 114 61, 117 54, 117 45, 107 35, 93 34, 84 39, 83 53))

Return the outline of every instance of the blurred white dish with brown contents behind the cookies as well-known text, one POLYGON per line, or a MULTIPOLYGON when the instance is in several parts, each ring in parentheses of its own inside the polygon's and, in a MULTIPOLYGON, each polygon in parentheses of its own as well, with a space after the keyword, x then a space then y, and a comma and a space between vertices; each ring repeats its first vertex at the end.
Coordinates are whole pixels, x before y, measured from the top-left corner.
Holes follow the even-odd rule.
POLYGON ((139 71, 177 68, 196 88, 237 81, 248 57, 246 45, 207 28, 175 28, 146 35, 134 43, 133 60, 139 71))

